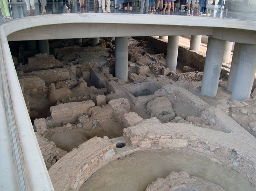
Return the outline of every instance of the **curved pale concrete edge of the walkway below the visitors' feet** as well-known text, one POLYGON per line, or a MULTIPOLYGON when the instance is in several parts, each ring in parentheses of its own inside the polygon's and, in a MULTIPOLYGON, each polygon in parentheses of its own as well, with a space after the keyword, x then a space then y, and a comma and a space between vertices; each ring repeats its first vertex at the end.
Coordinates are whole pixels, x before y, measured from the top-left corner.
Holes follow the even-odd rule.
POLYGON ((211 35, 256 44, 256 22, 208 17, 132 14, 56 14, 15 19, 1 25, 8 41, 65 38, 211 35), (139 19, 138 19, 139 18, 139 19), (158 25, 156 25, 156 23, 158 25), (152 27, 154 25, 154 27, 152 27), (74 30, 75 29, 75 30, 74 30))

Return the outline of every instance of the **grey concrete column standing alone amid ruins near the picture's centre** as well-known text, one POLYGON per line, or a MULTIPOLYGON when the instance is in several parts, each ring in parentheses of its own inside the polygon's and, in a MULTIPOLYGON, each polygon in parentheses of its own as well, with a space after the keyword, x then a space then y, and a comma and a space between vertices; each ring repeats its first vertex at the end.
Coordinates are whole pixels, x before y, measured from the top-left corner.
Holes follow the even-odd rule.
POLYGON ((128 80, 128 37, 116 37, 115 77, 128 80))

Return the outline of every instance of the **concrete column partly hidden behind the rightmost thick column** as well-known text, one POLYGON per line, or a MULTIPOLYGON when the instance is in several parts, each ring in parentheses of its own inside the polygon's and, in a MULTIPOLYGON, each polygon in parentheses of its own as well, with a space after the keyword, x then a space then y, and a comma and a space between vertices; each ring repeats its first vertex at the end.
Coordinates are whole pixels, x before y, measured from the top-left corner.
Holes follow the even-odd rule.
POLYGON ((235 43, 232 62, 230 66, 230 72, 228 76, 228 85, 227 85, 227 90, 231 92, 233 91, 233 87, 235 83, 236 72, 237 72, 238 62, 239 62, 240 53, 241 53, 240 49, 241 49, 241 44, 235 43))

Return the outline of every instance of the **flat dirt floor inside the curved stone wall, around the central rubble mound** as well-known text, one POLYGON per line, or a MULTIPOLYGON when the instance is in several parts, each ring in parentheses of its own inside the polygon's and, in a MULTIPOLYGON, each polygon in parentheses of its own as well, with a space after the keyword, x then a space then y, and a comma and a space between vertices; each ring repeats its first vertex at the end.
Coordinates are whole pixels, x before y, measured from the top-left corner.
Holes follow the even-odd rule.
POLYGON ((197 156, 163 151, 139 151, 96 171, 79 191, 144 191, 158 177, 186 171, 220 185, 227 191, 252 191, 248 182, 229 167, 197 156))

